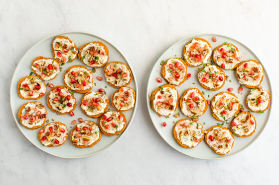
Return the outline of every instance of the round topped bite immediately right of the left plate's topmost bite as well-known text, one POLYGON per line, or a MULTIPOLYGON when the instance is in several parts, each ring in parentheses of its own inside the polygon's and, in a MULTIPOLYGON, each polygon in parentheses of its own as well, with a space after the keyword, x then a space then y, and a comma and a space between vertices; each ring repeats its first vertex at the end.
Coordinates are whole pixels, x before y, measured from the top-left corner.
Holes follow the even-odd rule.
POLYGON ((109 61, 109 50, 101 42, 90 42, 79 49, 78 56, 84 64, 99 68, 103 67, 109 61))

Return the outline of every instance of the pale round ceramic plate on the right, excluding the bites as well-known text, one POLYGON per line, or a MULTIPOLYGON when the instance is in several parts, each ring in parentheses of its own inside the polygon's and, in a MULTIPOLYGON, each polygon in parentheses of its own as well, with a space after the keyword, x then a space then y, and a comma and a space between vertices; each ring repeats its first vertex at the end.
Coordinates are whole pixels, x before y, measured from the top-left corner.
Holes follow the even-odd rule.
MULTIPOLYGON (((255 133, 251 137, 246 137, 246 138, 245 137, 241 138, 241 137, 235 136, 234 147, 226 155, 218 155, 215 152, 213 152, 213 150, 207 146, 207 144, 205 143, 204 140, 200 144, 198 144, 197 147, 192 148, 192 149, 187 149, 187 148, 181 147, 175 141, 175 139, 173 137, 173 132, 172 132, 173 127, 174 127, 174 123, 176 123, 180 119, 187 118, 186 116, 184 116, 181 113, 180 107, 178 106, 178 108, 176 109, 176 112, 174 112, 174 114, 175 113, 180 114, 179 118, 173 117, 174 114, 170 115, 169 118, 165 118, 165 117, 160 117, 159 118, 158 115, 152 110, 152 108, 150 106, 150 100, 149 100, 148 95, 150 93, 152 93, 152 91, 155 88, 157 88, 158 86, 167 83, 160 75, 161 68, 162 68, 162 65, 160 65, 160 62, 161 61, 166 61, 167 59, 173 58, 173 57, 181 58, 182 55, 183 55, 182 53, 183 53, 183 48, 184 48, 185 44, 187 42, 189 42, 190 40, 192 40, 193 38, 196 38, 196 37, 200 37, 200 38, 203 38, 203 39, 206 39, 207 41, 209 41, 209 43, 212 46, 212 49, 214 49, 217 46, 223 44, 224 42, 232 43, 232 44, 234 44, 235 46, 238 47, 238 49, 241 53, 241 56, 242 56, 241 61, 247 61, 247 60, 253 59, 253 60, 256 60, 256 61, 259 61, 259 62, 262 63, 262 61, 248 47, 246 47, 244 44, 240 43, 239 41, 236 41, 236 40, 234 40, 232 38, 229 38, 229 37, 226 37, 226 36, 213 35, 213 34, 202 34, 202 35, 195 35, 195 36, 192 36, 192 37, 185 38, 185 39, 175 43, 170 48, 168 48, 161 55, 161 57, 156 61, 156 63, 154 63, 153 69, 151 70, 151 73, 150 73, 150 76, 149 76, 149 79, 148 79, 147 90, 146 90, 148 112, 149 112, 150 118, 152 120, 152 123, 154 124, 156 130, 159 132, 161 137, 171 147, 173 147, 177 151, 179 151, 179 152, 181 152, 185 155, 195 157, 195 158, 200 158, 200 159, 225 158, 225 157, 234 155, 234 154, 244 150, 252 142, 254 142, 256 140, 256 138, 262 133, 263 129, 265 128, 266 124, 268 123, 272 103, 271 103, 269 109, 267 111, 265 111, 263 114, 252 113, 253 116, 255 116, 255 118, 257 120, 257 129, 256 129, 255 133), (213 36, 217 37, 217 42, 212 41, 213 36), (156 81, 157 77, 160 77, 163 80, 163 82, 158 83, 156 81), (163 122, 166 122, 165 127, 162 126, 163 122)), ((208 61, 208 63, 210 63, 211 61, 212 61, 212 59, 210 59, 208 61)), ((203 66, 201 65, 199 67, 201 68, 203 66)), ((248 91, 250 92, 250 89, 244 86, 242 94, 238 94, 238 87, 240 86, 240 83, 239 83, 238 79, 236 78, 235 71, 224 70, 224 72, 225 72, 226 75, 229 76, 230 81, 229 80, 225 81, 225 85, 221 89, 219 89, 217 91, 210 91, 210 90, 207 90, 207 89, 203 88, 200 85, 200 83, 198 82, 198 79, 197 79, 198 67, 187 66, 187 73, 191 73, 192 76, 189 80, 186 80, 179 87, 175 86, 178 90, 179 97, 182 96, 184 91, 188 88, 198 88, 200 91, 204 92, 205 99, 211 100, 217 93, 222 92, 222 91, 227 91, 227 89, 229 87, 233 87, 234 90, 232 91, 232 93, 234 93, 239 98, 240 103, 243 105, 245 111, 248 111, 248 109, 246 108, 246 105, 245 105, 245 100, 246 100, 246 97, 248 95, 248 91)), ((272 95, 271 83, 270 83, 269 76, 268 76, 267 72, 265 71, 265 69, 264 69, 264 79, 262 81, 261 86, 267 88, 272 95)), ((217 123, 221 124, 224 127, 229 128, 232 119, 233 118, 229 119, 228 123, 218 122, 215 118, 213 118, 213 116, 211 114, 211 108, 209 106, 206 113, 204 115, 202 115, 201 117, 199 117, 198 122, 202 123, 203 126, 204 126, 204 129, 207 130, 211 126, 217 125, 217 123)))

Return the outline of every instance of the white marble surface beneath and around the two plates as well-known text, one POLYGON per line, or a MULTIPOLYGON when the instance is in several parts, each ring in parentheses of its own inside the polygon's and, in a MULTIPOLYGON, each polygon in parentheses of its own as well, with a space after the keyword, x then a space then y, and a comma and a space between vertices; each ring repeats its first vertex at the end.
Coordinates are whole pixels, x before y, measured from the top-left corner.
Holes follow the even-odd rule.
POLYGON ((273 96, 268 125, 249 148, 207 161, 163 141, 148 117, 144 95, 146 74, 162 52, 205 32, 249 46, 265 63, 277 95, 278 9, 278 0, 0 0, 0 184, 276 184, 278 97, 273 96), (42 38, 65 31, 89 32, 113 43, 132 63, 139 84, 138 113, 128 132, 84 159, 62 159, 34 147, 9 108, 9 84, 22 55, 42 38))

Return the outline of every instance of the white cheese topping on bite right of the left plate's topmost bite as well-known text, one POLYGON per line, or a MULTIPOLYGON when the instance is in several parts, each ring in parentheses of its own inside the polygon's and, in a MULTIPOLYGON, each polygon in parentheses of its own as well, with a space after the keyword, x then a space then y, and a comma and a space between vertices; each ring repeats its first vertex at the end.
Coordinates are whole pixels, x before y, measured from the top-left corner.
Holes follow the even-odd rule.
POLYGON ((84 57, 82 62, 89 65, 90 67, 100 67, 104 63, 108 62, 108 54, 106 53, 104 47, 99 45, 99 43, 89 43, 86 47, 82 49, 81 57, 84 57), (93 50, 90 53, 91 47, 94 47, 95 54, 93 50))

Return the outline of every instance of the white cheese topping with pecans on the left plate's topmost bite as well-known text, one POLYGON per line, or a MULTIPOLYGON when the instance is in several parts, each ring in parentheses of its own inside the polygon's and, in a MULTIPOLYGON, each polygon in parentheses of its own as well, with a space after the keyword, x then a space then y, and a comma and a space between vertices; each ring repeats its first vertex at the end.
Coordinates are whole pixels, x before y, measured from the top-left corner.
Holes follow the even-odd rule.
POLYGON ((76 50, 74 43, 71 43, 68 39, 56 38, 52 43, 52 47, 54 48, 55 59, 58 59, 59 61, 64 63, 71 62, 71 60, 74 60, 78 55, 78 51, 76 50), (56 42, 62 44, 58 44, 59 47, 57 47, 56 42), (67 52, 64 51, 63 47, 66 47, 65 51, 67 52), (73 50, 71 50, 72 47, 74 47, 73 50), (61 57, 59 57, 57 53, 60 53, 61 57))

